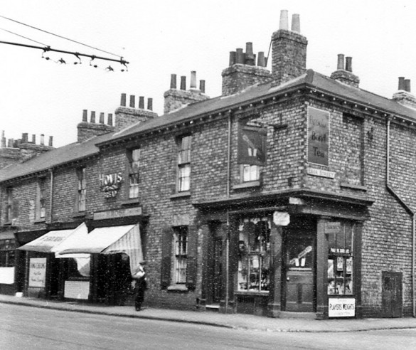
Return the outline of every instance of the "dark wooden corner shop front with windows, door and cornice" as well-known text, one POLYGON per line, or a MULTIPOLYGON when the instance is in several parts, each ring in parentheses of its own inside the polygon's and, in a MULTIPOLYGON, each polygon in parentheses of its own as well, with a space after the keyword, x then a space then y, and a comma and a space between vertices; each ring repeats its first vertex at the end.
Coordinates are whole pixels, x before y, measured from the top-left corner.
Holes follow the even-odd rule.
MULTIPOLYGON (((206 213, 203 266, 221 263, 220 311, 360 317, 361 230, 370 202, 308 199, 235 204, 216 212, 211 203, 209 211, 200 206, 206 213), (219 258, 214 237, 223 247, 219 258)), ((207 308, 215 302, 216 271, 203 269, 201 302, 207 308)))

